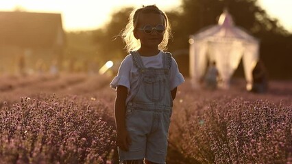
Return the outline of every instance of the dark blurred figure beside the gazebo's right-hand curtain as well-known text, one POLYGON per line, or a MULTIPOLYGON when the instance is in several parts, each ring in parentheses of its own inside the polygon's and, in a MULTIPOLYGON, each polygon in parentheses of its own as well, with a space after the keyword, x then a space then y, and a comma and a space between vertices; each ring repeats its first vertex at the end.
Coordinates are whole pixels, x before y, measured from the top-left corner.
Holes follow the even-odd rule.
POLYGON ((252 70, 252 92, 255 93, 265 93, 268 89, 268 78, 267 78, 267 70, 265 68, 265 65, 263 64, 263 61, 259 60, 256 63, 256 66, 254 67, 254 70, 252 70))

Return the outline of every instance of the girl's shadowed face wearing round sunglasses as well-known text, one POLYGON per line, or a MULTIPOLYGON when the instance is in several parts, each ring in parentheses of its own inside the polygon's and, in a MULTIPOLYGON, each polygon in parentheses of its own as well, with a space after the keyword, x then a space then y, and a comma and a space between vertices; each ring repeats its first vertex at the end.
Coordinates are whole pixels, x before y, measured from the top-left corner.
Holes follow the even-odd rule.
POLYGON ((137 28, 134 31, 135 38, 139 39, 141 42, 141 48, 158 49, 158 45, 162 42, 165 33, 165 31, 163 31, 164 25, 165 20, 161 14, 141 14, 138 18, 137 28), (149 30, 146 30, 145 32, 143 29, 145 26, 148 27, 145 29, 151 29, 149 28, 149 25, 151 26, 152 31, 150 30, 150 33, 146 33, 147 31, 149 32, 149 30))

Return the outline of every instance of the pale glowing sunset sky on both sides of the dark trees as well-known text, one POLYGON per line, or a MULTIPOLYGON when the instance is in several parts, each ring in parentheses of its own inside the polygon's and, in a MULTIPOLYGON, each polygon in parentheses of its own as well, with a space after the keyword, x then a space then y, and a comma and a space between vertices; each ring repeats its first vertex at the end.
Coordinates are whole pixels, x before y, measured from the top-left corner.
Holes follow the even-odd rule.
MULTIPOLYGON (((278 18, 280 23, 292 32, 292 0, 258 0, 260 6, 271 18, 278 18)), ((15 9, 27 12, 54 12, 62 14, 66 31, 97 29, 110 14, 121 7, 156 4, 162 10, 177 8, 180 0, 9 0, 0 1, 0 11, 15 9)))

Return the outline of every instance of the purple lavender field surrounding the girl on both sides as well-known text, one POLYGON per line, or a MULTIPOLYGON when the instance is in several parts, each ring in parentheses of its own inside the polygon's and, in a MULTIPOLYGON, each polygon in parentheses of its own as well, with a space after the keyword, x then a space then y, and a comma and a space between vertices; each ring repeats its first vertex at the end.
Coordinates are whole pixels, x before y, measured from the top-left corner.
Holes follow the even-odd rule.
MULTIPOLYGON (((0 163, 117 163, 111 79, 1 76, 0 163)), ((253 94, 186 79, 174 101, 167 163, 292 163, 292 81, 253 94)))

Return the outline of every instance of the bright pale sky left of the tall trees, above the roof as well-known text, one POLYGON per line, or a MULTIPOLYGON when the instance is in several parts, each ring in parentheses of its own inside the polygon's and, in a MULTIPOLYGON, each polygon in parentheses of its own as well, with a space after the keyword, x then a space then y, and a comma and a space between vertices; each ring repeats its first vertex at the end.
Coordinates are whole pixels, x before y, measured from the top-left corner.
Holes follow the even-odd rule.
POLYGON ((126 6, 156 4, 163 10, 180 5, 180 0, 10 0, 0 1, 0 11, 53 12, 62 14, 66 31, 97 29, 106 23, 110 14, 126 6))

